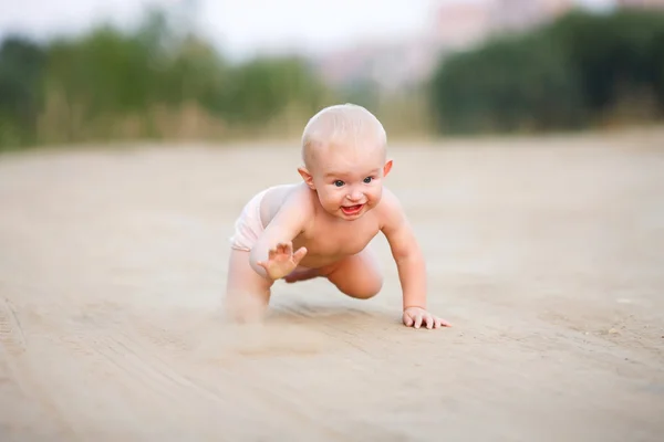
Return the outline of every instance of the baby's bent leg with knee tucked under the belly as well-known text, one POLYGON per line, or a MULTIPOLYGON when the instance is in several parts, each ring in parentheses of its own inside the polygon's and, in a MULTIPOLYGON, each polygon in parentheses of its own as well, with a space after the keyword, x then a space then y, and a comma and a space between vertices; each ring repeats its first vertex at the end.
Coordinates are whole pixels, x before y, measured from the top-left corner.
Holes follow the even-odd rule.
POLYGON ((360 299, 375 296, 383 287, 376 255, 369 246, 335 264, 326 276, 342 293, 360 299))

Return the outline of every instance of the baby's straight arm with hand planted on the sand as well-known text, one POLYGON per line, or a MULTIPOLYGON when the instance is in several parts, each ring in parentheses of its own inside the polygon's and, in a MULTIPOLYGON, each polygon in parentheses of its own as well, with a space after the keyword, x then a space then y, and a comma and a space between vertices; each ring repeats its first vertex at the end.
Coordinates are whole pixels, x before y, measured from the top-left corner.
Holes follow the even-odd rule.
POLYGON ((438 328, 449 325, 426 311, 426 263, 398 199, 384 190, 381 202, 382 231, 396 262, 403 291, 404 324, 438 328))

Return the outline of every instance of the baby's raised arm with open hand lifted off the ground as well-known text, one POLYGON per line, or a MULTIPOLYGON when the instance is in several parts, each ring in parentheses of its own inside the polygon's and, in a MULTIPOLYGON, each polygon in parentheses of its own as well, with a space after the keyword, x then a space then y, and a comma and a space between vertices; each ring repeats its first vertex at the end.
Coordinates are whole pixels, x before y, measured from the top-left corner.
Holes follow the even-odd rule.
POLYGON ((305 248, 293 253, 292 240, 311 220, 311 203, 304 192, 295 190, 262 232, 249 255, 251 267, 261 276, 279 280, 294 270, 307 254, 305 248))

